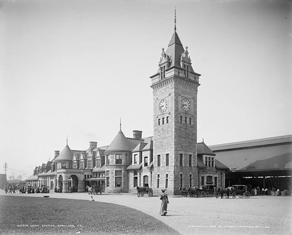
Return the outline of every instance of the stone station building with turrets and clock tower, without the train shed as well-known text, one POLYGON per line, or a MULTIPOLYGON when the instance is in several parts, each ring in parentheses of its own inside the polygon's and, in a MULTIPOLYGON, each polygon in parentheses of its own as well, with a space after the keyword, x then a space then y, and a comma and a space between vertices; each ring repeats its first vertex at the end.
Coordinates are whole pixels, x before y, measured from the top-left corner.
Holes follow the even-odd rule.
POLYGON ((175 27, 167 49, 162 49, 158 70, 150 77, 153 136, 143 138, 142 131, 134 130, 128 138, 120 127, 107 146, 91 141, 87 149, 73 150, 66 143, 52 161, 34 169, 27 183, 62 187, 62 192, 71 186, 83 192, 86 186, 100 185, 108 193, 136 192, 136 186, 153 188, 154 193, 166 188, 169 194, 180 194, 182 187, 224 187, 229 168, 204 142, 197 143, 200 76, 175 27))

